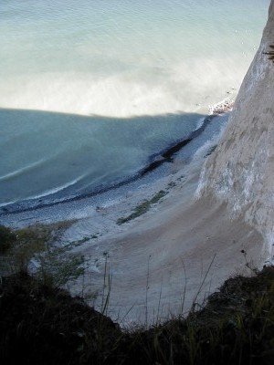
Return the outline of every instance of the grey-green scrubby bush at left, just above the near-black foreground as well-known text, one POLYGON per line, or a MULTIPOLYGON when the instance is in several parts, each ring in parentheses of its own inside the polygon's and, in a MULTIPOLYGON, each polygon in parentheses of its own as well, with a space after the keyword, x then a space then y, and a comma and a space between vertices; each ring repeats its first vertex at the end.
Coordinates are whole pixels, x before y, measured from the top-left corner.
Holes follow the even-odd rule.
MULTIPOLYGON (((74 245, 58 246, 59 235, 71 223, 35 225, 16 231, 0 227, 0 245, 5 245, 0 255, 0 275, 11 275, 27 271, 34 266, 38 282, 43 285, 63 286, 84 273, 84 257, 71 254, 74 245)), ((81 243, 86 242, 84 237, 81 243)))

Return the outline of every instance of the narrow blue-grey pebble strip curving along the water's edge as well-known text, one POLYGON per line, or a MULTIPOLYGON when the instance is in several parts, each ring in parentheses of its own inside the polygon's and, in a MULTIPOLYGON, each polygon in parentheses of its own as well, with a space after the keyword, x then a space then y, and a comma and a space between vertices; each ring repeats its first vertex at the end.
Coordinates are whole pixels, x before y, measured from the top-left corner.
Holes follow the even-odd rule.
MULTIPOLYGON (((125 197, 132 196, 134 194, 139 195, 133 199, 131 209, 135 205, 140 203, 143 199, 150 196, 150 191, 155 192, 154 188, 159 186, 158 190, 163 190, 165 181, 172 180, 174 172, 187 169, 188 164, 195 157, 195 153, 205 148, 205 155, 210 152, 212 144, 216 145, 218 137, 223 125, 226 125, 228 114, 221 115, 209 115, 205 117, 205 122, 198 130, 195 130, 193 134, 195 138, 191 141, 179 142, 176 147, 172 146, 168 151, 163 152, 163 162, 160 163, 157 168, 150 169, 149 172, 143 173, 138 178, 130 179, 126 183, 121 183, 119 186, 112 187, 112 189, 106 189, 101 193, 89 194, 89 196, 81 196, 79 198, 71 199, 70 201, 50 203, 46 206, 28 207, 20 212, 5 212, 0 215, 1 224, 10 226, 26 226, 29 224, 50 224, 53 222, 64 221, 68 219, 82 219, 89 216, 94 216, 97 206, 115 205, 117 202, 121 202, 125 197), (215 120, 214 122, 211 122, 215 120), (211 140, 216 140, 211 143, 211 140), (184 144, 184 146, 182 146, 184 144), (169 151, 173 155, 173 161, 169 160, 169 151), (169 161, 168 161, 168 160, 169 161), (145 187, 146 193, 143 193, 145 187), (142 190, 142 193, 140 192, 142 190)), ((159 154, 158 154, 159 156, 159 154)), ((155 159, 155 157, 154 157, 155 159)), ((204 162, 204 158, 202 158, 204 162)), ((152 162, 153 163, 153 162, 152 162)), ((184 174, 184 172, 182 172, 184 174)), ((127 200, 127 198, 125 198, 127 200)))

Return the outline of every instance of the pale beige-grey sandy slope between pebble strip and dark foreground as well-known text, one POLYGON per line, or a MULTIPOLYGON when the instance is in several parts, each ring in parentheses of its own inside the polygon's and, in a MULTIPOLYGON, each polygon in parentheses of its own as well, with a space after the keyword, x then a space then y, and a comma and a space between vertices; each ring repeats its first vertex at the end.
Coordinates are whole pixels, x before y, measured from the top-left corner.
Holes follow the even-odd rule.
MULTIPOLYGON (((202 305, 227 277, 252 274, 247 261, 262 266, 261 235, 240 219, 233 221, 225 204, 196 199, 201 167, 201 161, 191 163, 186 178, 185 167, 184 177, 182 170, 174 173, 174 183, 167 183, 172 188, 162 201, 129 223, 117 225, 115 218, 121 206, 134 201, 134 194, 116 207, 99 210, 101 224, 108 220, 111 224, 108 229, 104 226, 105 234, 74 249, 85 255, 88 264, 84 279, 69 290, 75 295, 98 290, 95 305, 100 309, 104 276, 110 276, 108 315, 124 327, 151 325, 187 312, 194 301, 202 305)), ((100 231, 99 220, 80 220, 63 239, 90 235, 95 226, 100 231)), ((107 292, 108 284, 105 297, 107 292)))

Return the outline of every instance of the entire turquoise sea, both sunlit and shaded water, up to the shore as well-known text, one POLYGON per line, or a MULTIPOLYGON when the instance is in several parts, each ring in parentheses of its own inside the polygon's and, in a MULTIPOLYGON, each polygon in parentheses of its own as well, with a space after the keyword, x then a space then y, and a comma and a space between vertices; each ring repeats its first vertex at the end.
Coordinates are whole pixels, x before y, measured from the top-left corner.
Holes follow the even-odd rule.
POLYGON ((0 204, 138 172, 233 98, 269 0, 0 3, 0 204))

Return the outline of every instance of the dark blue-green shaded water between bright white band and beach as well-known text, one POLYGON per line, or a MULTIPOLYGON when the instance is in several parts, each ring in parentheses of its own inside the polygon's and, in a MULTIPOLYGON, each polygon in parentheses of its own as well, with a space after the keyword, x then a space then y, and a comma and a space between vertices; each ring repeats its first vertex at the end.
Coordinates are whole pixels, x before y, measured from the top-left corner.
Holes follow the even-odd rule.
POLYGON ((78 176, 79 170, 86 173, 76 183, 65 184, 45 198, 6 205, 0 208, 0 214, 1 209, 2 214, 36 209, 130 183, 164 162, 172 162, 174 154, 199 135, 211 119, 197 113, 110 118, 0 109, 0 148, 5 151, 0 161, 2 200, 12 201, 17 188, 30 196, 33 183, 47 184, 60 171, 72 177, 74 173, 78 176), (95 176, 99 183, 92 185, 95 176), (100 176, 105 177, 100 181, 100 176))

